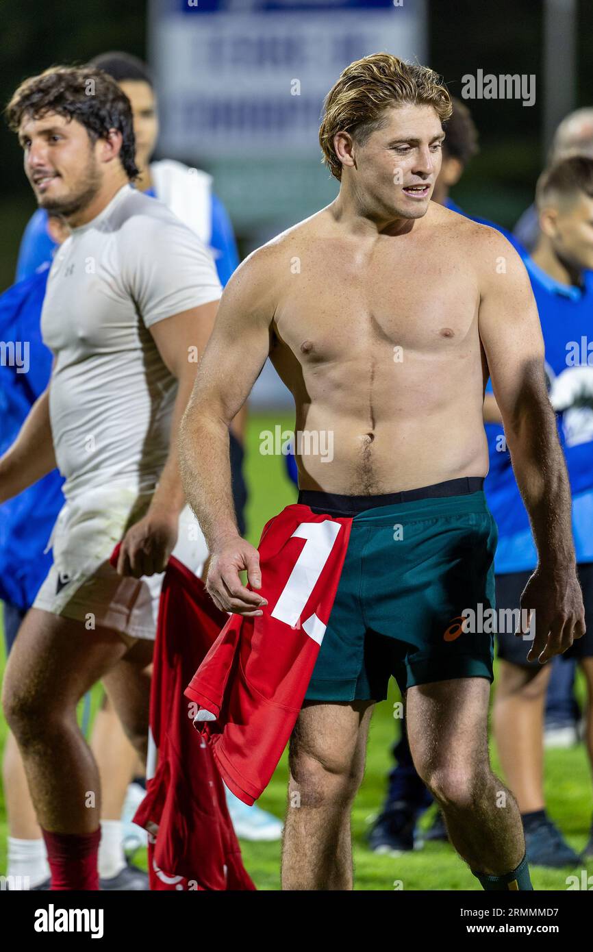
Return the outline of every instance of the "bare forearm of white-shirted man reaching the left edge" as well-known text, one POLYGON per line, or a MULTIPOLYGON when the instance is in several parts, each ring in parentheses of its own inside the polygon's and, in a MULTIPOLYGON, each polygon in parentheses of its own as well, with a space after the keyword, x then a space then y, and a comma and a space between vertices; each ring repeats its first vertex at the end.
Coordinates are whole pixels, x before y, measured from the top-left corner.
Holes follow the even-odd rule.
POLYGON ((55 469, 49 390, 30 408, 30 413, 9 449, 0 457, 0 503, 17 496, 55 469))

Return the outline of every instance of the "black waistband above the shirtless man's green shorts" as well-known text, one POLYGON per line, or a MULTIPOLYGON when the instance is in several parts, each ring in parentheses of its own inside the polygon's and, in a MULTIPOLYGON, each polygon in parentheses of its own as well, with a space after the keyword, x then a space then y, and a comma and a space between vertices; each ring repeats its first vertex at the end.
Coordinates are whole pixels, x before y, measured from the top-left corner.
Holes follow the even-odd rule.
POLYGON ((336 492, 320 492, 317 489, 299 489, 298 503, 309 506, 313 512, 354 516, 376 506, 395 506, 397 503, 415 503, 421 499, 446 499, 448 496, 464 496, 480 492, 484 488, 483 476, 462 476, 447 479, 433 486, 404 489, 402 492, 385 492, 379 496, 342 496, 336 492))

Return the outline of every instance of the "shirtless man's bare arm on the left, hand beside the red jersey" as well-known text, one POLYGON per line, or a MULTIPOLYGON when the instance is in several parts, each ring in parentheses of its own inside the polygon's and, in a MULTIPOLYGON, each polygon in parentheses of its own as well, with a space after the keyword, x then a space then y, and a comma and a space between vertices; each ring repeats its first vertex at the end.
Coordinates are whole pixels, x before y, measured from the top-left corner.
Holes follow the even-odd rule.
POLYGON ((210 553, 207 588, 224 611, 262 614, 265 604, 241 583, 260 585, 257 549, 241 539, 231 490, 228 426, 266 363, 274 316, 272 248, 254 252, 223 293, 208 347, 180 428, 180 467, 186 498, 210 553))

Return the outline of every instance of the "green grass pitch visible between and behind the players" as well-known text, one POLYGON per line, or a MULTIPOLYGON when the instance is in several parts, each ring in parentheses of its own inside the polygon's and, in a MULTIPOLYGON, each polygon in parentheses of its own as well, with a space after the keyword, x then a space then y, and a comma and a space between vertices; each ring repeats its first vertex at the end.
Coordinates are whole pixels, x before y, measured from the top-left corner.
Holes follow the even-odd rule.
MULTIPOLYGON (((257 543, 262 527, 272 515, 294 501, 295 490, 285 475, 284 459, 277 456, 262 456, 259 452, 260 433, 277 424, 283 428, 292 425, 290 417, 253 416, 250 420, 247 439, 247 481, 250 491, 248 504, 248 537, 257 543)), ((0 662, 0 673, 4 658, 0 662)), ((583 684, 578 690, 583 696, 583 684)), ((93 692, 93 709, 96 709, 100 688, 93 692)), ((366 829, 369 818, 379 808, 385 794, 385 774, 391 766, 390 747, 399 729, 392 717, 393 703, 399 699, 397 688, 385 704, 379 704, 370 728, 366 777, 354 804, 352 833, 356 888, 363 890, 441 890, 479 889, 479 883, 454 854, 448 844, 428 844, 424 849, 398 859, 375 856, 366 848, 366 829), (396 883, 398 885, 396 886, 396 883), (401 884, 399 884, 401 883, 401 884)), ((0 720, 0 745, 4 745, 6 724, 0 720)), ((492 761, 498 771, 496 752, 492 748, 492 761)), ((287 789, 286 755, 279 764, 260 805, 281 817, 285 811, 287 789)), ((583 744, 569 750, 553 750, 546 753, 545 789, 548 812, 563 830, 568 843, 575 849, 583 848, 591 822, 591 780, 583 744)), ((430 822, 431 811, 423 819, 430 822)), ((0 871, 6 866, 6 812, 4 797, 0 795, 0 871)), ((242 843, 244 860, 251 877, 259 889, 279 889, 280 844, 242 843)), ((136 858, 136 862, 140 857, 136 858)), ((585 867, 583 867, 585 868, 585 867)), ((581 875, 577 869, 550 870, 532 868, 535 889, 566 888, 566 877, 571 873, 581 875)), ((589 863, 588 874, 593 874, 589 863)))

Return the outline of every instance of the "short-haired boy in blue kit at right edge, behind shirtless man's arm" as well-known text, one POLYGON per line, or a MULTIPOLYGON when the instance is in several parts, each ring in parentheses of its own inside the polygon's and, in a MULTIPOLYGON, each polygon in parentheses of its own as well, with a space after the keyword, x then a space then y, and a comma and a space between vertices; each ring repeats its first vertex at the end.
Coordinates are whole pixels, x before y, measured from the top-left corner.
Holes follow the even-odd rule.
MULTIPOLYGON (((593 159, 574 156, 544 171, 536 190, 540 237, 524 261, 542 323, 550 402, 558 413, 572 492, 572 522, 583 588, 583 639, 561 657, 576 659, 587 685, 586 740, 593 764, 593 159), (589 343, 591 342, 591 343, 589 343)), ((484 491, 499 527, 497 608, 517 608, 538 559, 515 482, 496 400, 487 388, 484 420, 490 471, 484 491), (489 392, 488 392, 489 391, 489 392)), ((499 616, 500 617, 500 616, 499 616)), ((504 774, 522 813, 530 863, 565 866, 579 856, 545 812, 543 736, 551 665, 525 660, 524 641, 498 636, 493 724, 504 774)), ((583 859, 593 858, 593 830, 583 859)))

